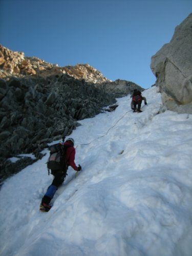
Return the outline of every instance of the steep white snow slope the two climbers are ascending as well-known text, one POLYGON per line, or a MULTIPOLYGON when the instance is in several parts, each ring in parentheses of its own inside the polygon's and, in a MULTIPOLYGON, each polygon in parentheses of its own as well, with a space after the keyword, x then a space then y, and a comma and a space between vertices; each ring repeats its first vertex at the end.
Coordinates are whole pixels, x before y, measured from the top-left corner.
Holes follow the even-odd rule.
POLYGON ((130 111, 130 96, 114 112, 80 121, 76 164, 39 212, 52 181, 47 154, 1 188, 2 256, 189 256, 192 252, 192 115, 160 113, 160 94, 130 111))

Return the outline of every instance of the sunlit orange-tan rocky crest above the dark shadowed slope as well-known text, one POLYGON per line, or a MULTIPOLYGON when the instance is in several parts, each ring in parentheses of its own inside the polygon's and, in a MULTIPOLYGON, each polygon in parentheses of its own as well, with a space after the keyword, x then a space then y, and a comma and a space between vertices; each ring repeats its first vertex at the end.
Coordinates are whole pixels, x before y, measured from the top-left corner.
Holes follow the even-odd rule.
POLYGON ((76 66, 58 67, 37 57, 25 57, 24 52, 11 51, 0 45, 0 77, 10 78, 30 76, 48 77, 56 74, 68 74, 78 80, 86 82, 103 83, 110 82, 102 73, 89 64, 77 64, 76 66))

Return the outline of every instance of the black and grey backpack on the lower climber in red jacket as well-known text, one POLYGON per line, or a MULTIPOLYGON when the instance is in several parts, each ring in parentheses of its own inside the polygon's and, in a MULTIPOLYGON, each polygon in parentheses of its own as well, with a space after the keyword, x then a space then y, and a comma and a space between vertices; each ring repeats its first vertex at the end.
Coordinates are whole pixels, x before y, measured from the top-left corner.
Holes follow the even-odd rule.
POLYGON ((69 146, 61 143, 50 146, 50 155, 47 161, 48 173, 49 170, 67 172, 67 163, 65 159, 66 150, 69 146))

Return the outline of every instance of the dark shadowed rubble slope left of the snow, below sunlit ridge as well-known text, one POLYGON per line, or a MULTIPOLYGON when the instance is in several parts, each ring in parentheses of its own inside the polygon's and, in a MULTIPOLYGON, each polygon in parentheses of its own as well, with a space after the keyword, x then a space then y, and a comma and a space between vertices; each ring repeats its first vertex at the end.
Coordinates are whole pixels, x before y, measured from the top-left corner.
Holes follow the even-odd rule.
POLYGON ((11 163, 9 157, 33 153, 40 159, 42 149, 62 134, 69 135, 78 120, 115 102, 114 95, 65 74, 1 79, 1 180, 35 161, 23 157, 11 163))

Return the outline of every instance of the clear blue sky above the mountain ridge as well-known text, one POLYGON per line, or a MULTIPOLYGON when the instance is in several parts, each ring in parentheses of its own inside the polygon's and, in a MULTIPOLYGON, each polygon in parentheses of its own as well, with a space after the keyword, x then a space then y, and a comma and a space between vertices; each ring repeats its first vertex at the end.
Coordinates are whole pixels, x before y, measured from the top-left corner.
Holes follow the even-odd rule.
POLYGON ((152 55, 191 11, 191 0, 0 0, 0 44, 149 88, 152 55))

